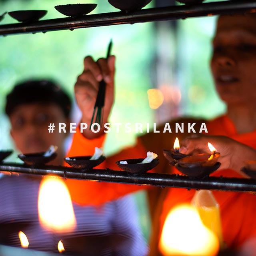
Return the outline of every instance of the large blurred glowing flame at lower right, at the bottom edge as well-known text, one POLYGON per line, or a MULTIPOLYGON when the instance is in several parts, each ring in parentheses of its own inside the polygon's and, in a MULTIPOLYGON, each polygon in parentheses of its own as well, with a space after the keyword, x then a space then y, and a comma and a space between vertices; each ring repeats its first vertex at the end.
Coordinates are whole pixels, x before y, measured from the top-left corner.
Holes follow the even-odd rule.
POLYGON ((215 256, 219 250, 219 241, 217 236, 202 224, 196 208, 182 204, 168 214, 159 249, 164 256, 215 256))

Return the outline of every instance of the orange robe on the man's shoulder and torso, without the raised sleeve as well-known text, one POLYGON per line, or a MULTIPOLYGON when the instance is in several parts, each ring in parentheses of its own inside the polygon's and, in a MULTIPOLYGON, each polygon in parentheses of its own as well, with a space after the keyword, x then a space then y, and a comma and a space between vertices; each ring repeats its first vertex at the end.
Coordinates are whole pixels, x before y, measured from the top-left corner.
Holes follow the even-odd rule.
MULTIPOLYGON (((222 116, 206 124, 211 135, 224 135, 256 149, 256 130, 237 134, 234 124, 227 116, 222 116)), ((233 170, 217 170, 212 176, 238 177, 233 170)), ((229 248, 237 248, 248 238, 256 237, 256 196, 248 192, 212 191, 218 204, 222 221, 223 240, 229 248)), ((163 205, 161 228, 172 207, 182 202, 190 203, 195 190, 170 188, 163 205)), ((159 234, 160 235, 160 234, 159 234)))

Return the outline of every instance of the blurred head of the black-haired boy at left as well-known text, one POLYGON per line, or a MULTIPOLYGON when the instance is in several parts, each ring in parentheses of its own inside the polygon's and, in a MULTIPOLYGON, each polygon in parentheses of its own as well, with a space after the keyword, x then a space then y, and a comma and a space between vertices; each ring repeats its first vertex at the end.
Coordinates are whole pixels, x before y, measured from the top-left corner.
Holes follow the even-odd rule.
POLYGON ((11 122, 11 136, 24 154, 42 152, 56 145, 61 152, 66 136, 58 132, 60 122, 68 122, 71 101, 52 81, 28 80, 17 84, 6 97, 6 114, 11 122), (56 131, 48 132, 54 123, 56 131))

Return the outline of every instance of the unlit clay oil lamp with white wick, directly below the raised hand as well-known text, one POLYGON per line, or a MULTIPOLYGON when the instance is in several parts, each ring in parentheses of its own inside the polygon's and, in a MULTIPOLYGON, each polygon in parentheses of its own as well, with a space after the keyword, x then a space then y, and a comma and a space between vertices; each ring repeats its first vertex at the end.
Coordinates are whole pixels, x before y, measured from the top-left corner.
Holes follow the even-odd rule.
POLYGON ((93 156, 73 156, 66 157, 64 158, 64 160, 66 163, 74 168, 90 170, 104 162, 106 157, 102 154, 102 148, 95 147, 95 152, 93 156))

